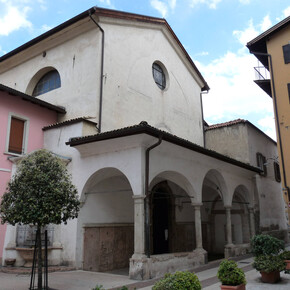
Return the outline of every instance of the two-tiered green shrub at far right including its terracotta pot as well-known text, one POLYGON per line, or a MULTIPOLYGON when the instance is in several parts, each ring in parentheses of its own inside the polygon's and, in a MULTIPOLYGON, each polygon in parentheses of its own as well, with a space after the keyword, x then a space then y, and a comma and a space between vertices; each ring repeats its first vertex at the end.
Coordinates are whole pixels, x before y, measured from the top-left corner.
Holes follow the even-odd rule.
POLYGON ((269 235, 256 235, 251 239, 252 253, 255 256, 253 267, 261 273, 264 283, 277 283, 280 272, 285 269, 281 251, 284 242, 269 235))

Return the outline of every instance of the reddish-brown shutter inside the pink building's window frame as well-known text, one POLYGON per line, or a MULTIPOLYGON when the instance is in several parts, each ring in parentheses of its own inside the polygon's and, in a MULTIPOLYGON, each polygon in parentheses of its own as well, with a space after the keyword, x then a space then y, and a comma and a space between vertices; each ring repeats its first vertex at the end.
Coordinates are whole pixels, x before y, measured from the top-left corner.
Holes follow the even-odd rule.
POLYGON ((23 152, 24 120, 11 118, 9 148, 11 153, 21 154, 23 152))

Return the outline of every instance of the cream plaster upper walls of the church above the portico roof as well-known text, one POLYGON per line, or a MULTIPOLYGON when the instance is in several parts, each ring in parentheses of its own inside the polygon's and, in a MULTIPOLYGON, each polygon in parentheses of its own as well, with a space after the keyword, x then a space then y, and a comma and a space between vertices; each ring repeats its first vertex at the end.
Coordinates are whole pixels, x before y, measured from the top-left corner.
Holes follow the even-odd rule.
MULTIPOLYGON (((105 31, 102 131, 146 120, 202 145, 202 84, 168 31, 152 24, 116 24, 106 19, 100 25, 105 31), (166 70, 163 91, 153 80, 155 61, 166 70)), ((60 73, 61 87, 39 98, 66 107, 63 119, 90 116, 98 122, 101 33, 91 23, 82 26, 86 27, 82 34, 67 32, 71 37, 64 42, 57 43, 62 35, 55 35, 39 43, 38 54, 34 51, 30 58, 28 49, 25 61, 9 70, 4 71, 5 62, 0 64, 0 81, 31 93, 31 84, 41 77, 37 73, 53 67, 60 73)))

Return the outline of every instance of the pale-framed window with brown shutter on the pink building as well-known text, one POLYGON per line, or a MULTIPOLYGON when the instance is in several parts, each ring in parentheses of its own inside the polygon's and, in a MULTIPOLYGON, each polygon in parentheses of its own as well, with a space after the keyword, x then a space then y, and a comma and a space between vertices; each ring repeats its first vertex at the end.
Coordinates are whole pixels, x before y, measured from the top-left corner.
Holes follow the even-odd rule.
POLYGON ((28 120, 10 116, 8 126, 7 152, 23 154, 26 146, 28 120))

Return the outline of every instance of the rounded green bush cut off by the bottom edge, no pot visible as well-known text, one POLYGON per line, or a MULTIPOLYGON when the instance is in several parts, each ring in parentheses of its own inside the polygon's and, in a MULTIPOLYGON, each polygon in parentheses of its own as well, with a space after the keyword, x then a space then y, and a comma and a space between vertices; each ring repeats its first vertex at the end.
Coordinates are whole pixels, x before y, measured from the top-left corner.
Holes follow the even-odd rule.
POLYGON ((165 274, 164 278, 156 282, 153 290, 200 290, 201 284, 194 273, 177 271, 165 274))

